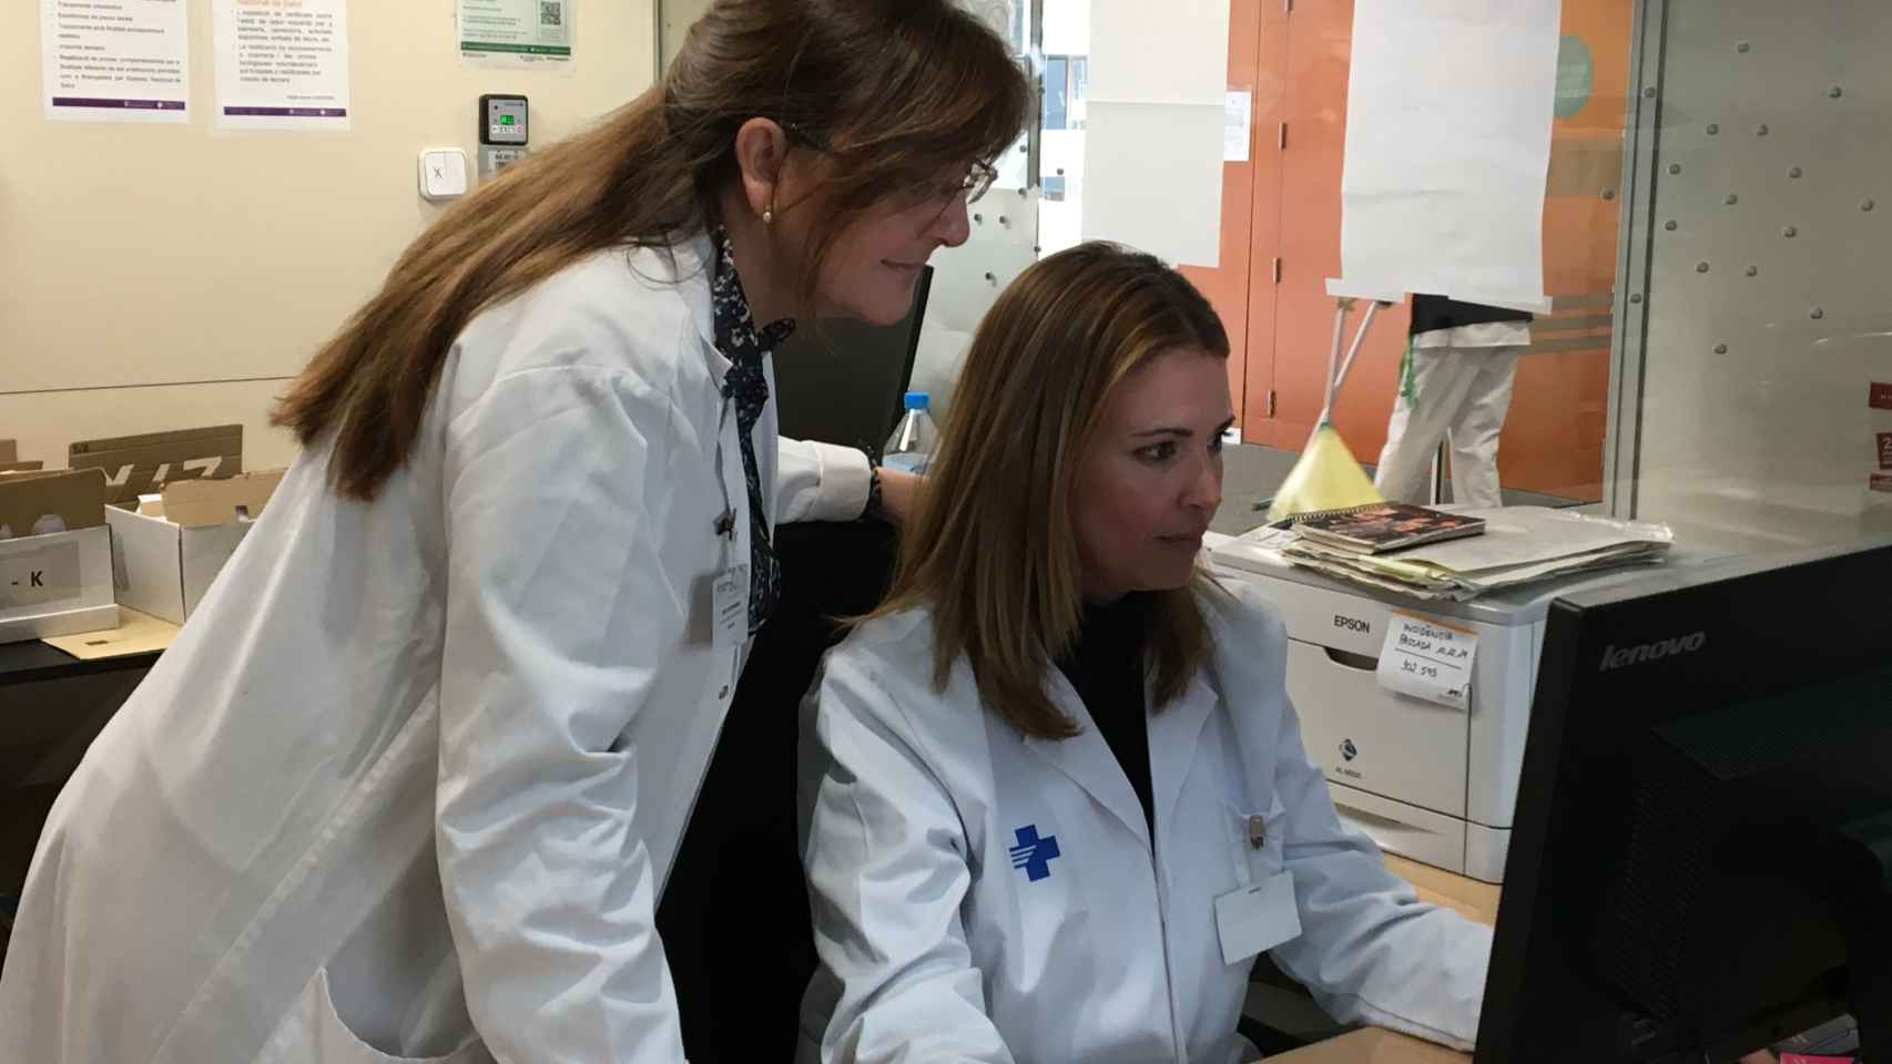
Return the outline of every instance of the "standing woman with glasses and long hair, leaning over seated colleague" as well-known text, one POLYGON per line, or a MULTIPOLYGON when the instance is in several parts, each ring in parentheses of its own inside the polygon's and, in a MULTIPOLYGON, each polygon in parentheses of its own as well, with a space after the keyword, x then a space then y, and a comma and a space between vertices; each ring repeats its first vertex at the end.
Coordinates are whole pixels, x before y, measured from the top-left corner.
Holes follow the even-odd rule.
POLYGON ((902 317, 1024 117, 946 0, 719 0, 422 234, 61 794, 0 1060, 681 1060, 653 907, 770 531, 868 501, 859 455, 778 455, 768 352, 902 317))

